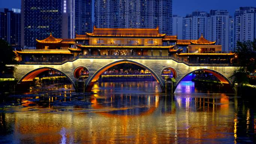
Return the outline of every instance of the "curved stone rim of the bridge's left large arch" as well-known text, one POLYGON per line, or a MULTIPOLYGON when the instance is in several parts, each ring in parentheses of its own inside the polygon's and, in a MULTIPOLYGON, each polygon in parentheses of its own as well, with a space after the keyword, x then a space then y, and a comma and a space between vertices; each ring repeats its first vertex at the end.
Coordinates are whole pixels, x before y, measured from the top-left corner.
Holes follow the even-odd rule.
POLYGON ((27 74, 25 74, 19 81, 17 84, 20 84, 22 82, 26 82, 26 81, 31 81, 33 80, 37 75, 39 75, 40 73, 43 73, 44 71, 47 71, 47 70, 55 70, 55 71, 58 71, 60 73, 63 73, 64 76, 66 76, 68 78, 68 80, 72 83, 74 89, 76 89, 76 85, 74 84, 74 82, 70 79, 70 77, 67 76, 67 74, 65 74, 64 72, 60 71, 60 70, 57 70, 55 68, 52 68, 52 67, 40 67, 40 68, 37 68, 37 69, 34 69, 30 72, 28 72, 27 74))

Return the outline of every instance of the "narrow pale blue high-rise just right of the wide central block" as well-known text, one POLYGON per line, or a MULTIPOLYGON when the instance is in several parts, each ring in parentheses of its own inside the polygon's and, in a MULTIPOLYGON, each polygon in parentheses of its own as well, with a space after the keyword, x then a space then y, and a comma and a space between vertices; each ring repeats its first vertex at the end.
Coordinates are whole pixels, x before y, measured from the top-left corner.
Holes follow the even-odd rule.
POLYGON ((183 39, 183 18, 181 16, 173 15, 173 35, 178 39, 183 39))

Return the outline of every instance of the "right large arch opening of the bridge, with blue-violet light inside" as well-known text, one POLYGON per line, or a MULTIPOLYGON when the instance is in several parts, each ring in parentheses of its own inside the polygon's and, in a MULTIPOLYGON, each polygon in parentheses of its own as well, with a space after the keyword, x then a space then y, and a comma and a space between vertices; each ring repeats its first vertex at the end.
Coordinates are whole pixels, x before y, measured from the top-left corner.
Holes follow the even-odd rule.
POLYGON ((208 91, 213 93, 235 93, 234 87, 228 78, 207 68, 191 71, 183 76, 174 87, 175 93, 204 93, 208 91))

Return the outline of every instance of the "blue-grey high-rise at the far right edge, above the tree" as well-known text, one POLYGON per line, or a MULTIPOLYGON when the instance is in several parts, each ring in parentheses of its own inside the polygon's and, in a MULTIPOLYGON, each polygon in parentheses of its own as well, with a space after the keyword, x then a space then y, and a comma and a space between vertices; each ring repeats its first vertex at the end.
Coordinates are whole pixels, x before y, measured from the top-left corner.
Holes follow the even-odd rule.
POLYGON ((234 48, 237 41, 256 39, 256 7, 240 7, 234 15, 234 48))

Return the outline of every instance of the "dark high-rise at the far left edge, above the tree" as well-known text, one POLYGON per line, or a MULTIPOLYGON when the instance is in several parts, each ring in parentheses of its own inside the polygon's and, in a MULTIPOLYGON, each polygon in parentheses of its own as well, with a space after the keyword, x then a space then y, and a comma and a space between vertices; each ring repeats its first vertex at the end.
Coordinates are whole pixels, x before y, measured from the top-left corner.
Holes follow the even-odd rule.
POLYGON ((21 10, 0 9, 0 39, 13 47, 21 46, 21 10))

